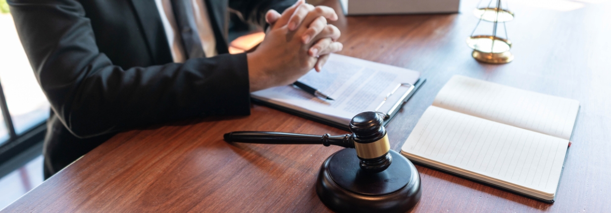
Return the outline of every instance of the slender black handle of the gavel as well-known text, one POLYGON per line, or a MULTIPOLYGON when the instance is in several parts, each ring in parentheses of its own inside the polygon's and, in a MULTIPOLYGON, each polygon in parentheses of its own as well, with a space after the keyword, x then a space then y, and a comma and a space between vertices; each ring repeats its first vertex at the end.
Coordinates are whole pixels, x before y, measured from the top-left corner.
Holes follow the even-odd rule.
POLYGON ((323 144, 354 148, 351 134, 331 136, 330 134, 295 134, 274 131, 232 131, 223 136, 227 142, 250 144, 323 144))

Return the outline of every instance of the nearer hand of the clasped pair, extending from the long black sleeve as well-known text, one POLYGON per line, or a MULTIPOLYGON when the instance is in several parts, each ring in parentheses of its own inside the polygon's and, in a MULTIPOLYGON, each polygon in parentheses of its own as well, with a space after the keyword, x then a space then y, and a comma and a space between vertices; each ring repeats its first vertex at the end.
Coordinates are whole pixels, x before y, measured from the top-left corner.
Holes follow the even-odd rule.
MULTIPOLYGON (((334 41, 340 36, 339 30, 326 22, 322 29, 317 30, 316 35, 304 44, 300 35, 310 30, 312 24, 301 24, 296 30, 289 30, 288 24, 280 25, 288 23, 291 15, 281 15, 257 49, 247 54, 251 91, 289 85, 317 65, 320 57, 316 56, 328 55, 342 49, 342 44, 334 41), (313 41, 319 42, 314 44, 313 41), (316 51, 311 51, 310 47, 315 47, 316 51)), ((320 16, 307 15, 302 23, 313 23, 318 17, 320 16)))

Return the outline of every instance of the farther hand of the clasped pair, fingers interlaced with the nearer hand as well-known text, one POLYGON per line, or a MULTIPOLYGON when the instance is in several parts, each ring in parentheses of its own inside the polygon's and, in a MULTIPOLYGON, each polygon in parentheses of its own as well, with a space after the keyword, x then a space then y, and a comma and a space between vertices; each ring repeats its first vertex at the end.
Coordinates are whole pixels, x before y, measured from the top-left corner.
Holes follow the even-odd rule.
MULTIPOLYGON (((301 35, 302 42, 307 44, 327 27, 327 19, 336 21, 337 14, 335 10, 330 7, 314 7, 313 5, 305 4, 304 1, 299 0, 293 6, 285 10, 282 15, 276 12, 276 10, 269 10, 265 19, 267 23, 270 24, 270 29, 288 24, 289 30, 295 30, 302 23, 307 24, 308 29, 301 35)), ((324 63, 326 63, 329 58, 329 53, 341 51, 343 46, 341 43, 335 42, 337 37, 315 40, 316 43, 310 47, 309 54, 313 57, 318 57, 318 61, 314 66, 316 71, 321 71, 324 63)))

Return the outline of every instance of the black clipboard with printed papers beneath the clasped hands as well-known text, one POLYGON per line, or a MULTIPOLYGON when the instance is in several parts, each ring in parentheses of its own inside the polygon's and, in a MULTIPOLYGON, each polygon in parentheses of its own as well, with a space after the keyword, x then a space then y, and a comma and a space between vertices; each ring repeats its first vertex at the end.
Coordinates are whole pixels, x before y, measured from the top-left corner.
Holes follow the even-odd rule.
POLYGON ((299 81, 335 100, 319 99, 295 86, 277 86, 251 96, 257 103, 348 130, 350 120, 364 111, 385 114, 387 124, 422 84, 419 79, 417 71, 331 54, 323 71, 312 69, 299 81))

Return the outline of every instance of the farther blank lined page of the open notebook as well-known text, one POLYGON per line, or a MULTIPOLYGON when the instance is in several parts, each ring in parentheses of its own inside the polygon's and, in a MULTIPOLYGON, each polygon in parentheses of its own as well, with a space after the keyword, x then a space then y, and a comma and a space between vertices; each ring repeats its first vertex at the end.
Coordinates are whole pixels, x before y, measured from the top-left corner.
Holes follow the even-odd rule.
POLYGON ((433 105, 567 140, 579 110, 577 100, 461 75, 445 84, 433 105))

